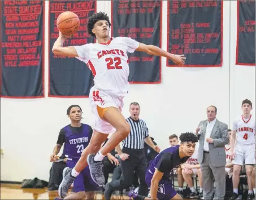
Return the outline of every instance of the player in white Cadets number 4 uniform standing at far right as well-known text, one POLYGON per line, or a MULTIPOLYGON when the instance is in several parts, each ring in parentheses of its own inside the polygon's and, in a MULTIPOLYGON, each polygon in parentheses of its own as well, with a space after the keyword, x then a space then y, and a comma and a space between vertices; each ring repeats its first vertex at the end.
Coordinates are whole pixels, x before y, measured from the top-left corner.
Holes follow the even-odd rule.
MULTIPOLYGON (((251 115, 251 101, 242 101, 242 115, 233 122, 231 135, 231 159, 233 159, 233 195, 230 199, 238 199, 238 184, 240 171, 245 163, 248 181, 248 199, 253 199, 251 172, 255 165, 255 118, 251 115), (236 144, 235 144, 236 142, 236 144)), ((254 188, 255 193, 255 188, 254 188)))

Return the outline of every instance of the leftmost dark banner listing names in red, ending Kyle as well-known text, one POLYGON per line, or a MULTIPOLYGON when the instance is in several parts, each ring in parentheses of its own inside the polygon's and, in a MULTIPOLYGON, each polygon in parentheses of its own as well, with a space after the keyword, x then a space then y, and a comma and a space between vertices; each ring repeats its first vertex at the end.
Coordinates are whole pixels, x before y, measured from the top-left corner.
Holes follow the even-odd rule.
POLYGON ((45 1, 1 1, 1 97, 44 97, 45 1))

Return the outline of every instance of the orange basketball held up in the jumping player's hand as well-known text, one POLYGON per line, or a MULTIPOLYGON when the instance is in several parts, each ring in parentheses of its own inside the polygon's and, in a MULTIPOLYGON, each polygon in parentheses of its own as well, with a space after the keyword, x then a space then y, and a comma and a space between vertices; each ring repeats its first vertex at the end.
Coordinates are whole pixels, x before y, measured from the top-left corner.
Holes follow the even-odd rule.
POLYGON ((63 34, 74 34, 79 30, 80 19, 70 11, 62 12, 57 19, 57 28, 63 34))

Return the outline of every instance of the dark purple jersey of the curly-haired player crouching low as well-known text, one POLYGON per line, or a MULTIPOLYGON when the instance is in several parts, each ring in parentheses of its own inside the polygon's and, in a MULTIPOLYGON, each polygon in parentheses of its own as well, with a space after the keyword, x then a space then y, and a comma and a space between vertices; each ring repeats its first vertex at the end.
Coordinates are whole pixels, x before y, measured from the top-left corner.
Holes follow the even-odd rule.
POLYGON ((170 176, 173 175, 173 169, 181 166, 181 164, 186 162, 189 158, 180 158, 179 146, 180 145, 176 145, 164 149, 153 159, 153 161, 151 161, 147 171, 153 175, 157 168, 160 172, 163 172, 162 180, 169 180, 170 176))

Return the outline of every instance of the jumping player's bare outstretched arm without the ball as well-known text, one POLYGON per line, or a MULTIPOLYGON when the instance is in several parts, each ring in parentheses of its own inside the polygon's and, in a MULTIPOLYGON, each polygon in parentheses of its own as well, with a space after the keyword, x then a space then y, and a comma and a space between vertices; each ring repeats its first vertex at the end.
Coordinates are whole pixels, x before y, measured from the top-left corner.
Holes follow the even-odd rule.
POLYGON ((164 56, 167 57, 167 59, 171 59, 173 63, 181 66, 185 63, 184 60, 186 59, 184 55, 170 54, 167 51, 162 50, 162 48, 154 45, 145 45, 144 43, 140 43, 136 51, 143 51, 154 56, 164 56))

